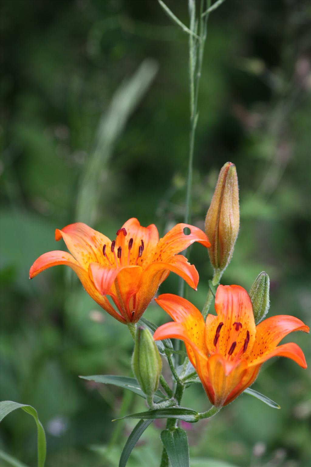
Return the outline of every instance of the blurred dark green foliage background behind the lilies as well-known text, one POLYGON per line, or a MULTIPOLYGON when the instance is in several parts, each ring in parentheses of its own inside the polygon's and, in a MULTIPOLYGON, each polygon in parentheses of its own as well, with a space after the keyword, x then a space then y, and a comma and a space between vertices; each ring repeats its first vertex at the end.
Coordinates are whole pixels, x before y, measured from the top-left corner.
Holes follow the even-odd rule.
MULTIPOLYGON (((167 5, 188 23, 185 0, 167 5)), ((222 283, 249 290, 265 270, 270 315, 308 325, 310 18, 304 0, 227 0, 211 14, 192 208, 203 227, 218 171, 234 162, 241 229, 222 283)), ((2 0, 0 21, 1 400, 38 410, 48 467, 117 466, 135 421, 111 419, 144 402, 78 375, 131 375, 128 329, 66 268, 31 283, 28 270, 42 253, 65 249, 54 230, 76 220, 113 238, 130 217, 161 235, 182 221, 187 35, 155 0, 2 0)), ((200 283, 189 298, 198 307, 212 274, 203 250, 190 252, 200 283)), ((177 276, 160 291, 177 293, 177 276)), ((168 321, 154 304, 145 317, 168 321)), ((310 365, 309 336, 286 340, 310 365)), ((242 395, 211 420, 184 425, 193 467, 310 465, 309 369, 272 359, 253 388, 282 409, 242 395)), ((183 405, 207 410, 202 387, 187 389, 183 405)), ((1 448, 34 466, 35 424, 19 412, 2 422, 1 448)), ((163 426, 150 425, 130 467, 159 465, 163 426)))

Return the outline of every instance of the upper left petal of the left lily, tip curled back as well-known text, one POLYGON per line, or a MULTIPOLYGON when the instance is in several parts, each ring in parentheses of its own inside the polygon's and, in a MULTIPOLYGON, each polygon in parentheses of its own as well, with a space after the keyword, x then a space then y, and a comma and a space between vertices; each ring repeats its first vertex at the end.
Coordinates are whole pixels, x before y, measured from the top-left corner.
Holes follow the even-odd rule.
POLYGON ((69 226, 61 230, 56 229, 55 240, 59 241, 61 238, 65 241, 70 253, 84 269, 88 269, 91 262, 109 265, 107 258, 103 255, 103 246, 107 245, 107 249, 110 249, 111 241, 102 233, 83 224, 83 222, 69 224, 69 226))

